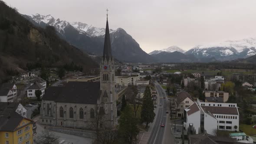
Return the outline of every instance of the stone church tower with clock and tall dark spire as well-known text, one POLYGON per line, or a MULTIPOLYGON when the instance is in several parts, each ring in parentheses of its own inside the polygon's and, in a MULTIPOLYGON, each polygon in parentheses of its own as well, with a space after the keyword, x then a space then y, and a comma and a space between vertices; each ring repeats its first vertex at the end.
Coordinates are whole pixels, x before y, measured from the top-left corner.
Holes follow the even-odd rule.
POLYGON ((100 65, 100 105, 104 108, 105 116, 109 124, 117 124, 117 109, 115 98, 115 66, 111 51, 111 42, 108 28, 108 13, 105 32, 105 42, 103 49, 102 62, 100 65))

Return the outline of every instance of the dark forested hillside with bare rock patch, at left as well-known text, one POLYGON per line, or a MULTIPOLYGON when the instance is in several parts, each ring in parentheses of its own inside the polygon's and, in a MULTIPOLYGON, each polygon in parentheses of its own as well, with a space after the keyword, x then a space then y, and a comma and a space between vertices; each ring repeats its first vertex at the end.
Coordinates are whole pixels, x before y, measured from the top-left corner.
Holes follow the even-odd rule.
POLYGON ((58 66, 70 62, 86 69, 98 68, 88 55, 60 39, 53 26, 35 26, 0 1, 0 78, 26 70, 28 63, 58 66))

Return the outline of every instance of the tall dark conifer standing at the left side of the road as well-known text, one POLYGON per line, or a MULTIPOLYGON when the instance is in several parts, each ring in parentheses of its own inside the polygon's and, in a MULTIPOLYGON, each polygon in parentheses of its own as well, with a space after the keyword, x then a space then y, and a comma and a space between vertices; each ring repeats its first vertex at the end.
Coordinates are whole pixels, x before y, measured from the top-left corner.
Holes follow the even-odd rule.
POLYGON ((146 128, 148 124, 154 121, 154 103, 151 98, 151 92, 149 86, 146 87, 143 97, 143 104, 141 108, 141 122, 146 123, 146 128))

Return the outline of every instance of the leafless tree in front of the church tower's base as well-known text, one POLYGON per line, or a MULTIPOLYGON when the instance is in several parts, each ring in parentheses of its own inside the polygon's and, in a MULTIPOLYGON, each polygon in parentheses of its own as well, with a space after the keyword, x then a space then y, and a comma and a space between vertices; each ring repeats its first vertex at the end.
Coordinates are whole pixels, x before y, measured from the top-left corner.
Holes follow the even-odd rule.
POLYGON ((95 118, 91 121, 91 128, 95 130, 96 140, 101 144, 113 144, 117 141, 118 131, 106 121, 107 115, 101 108, 95 106, 95 118))

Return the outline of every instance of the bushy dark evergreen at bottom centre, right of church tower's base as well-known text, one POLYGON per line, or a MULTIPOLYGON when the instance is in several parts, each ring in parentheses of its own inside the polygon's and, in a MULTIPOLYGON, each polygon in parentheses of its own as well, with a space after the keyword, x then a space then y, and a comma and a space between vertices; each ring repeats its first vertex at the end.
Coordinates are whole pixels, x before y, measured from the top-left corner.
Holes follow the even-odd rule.
POLYGON ((138 140, 139 128, 137 126, 138 119, 133 115, 131 108, 127 105, 118 119, 118 134, 120 137, 130 144, 138 140))

